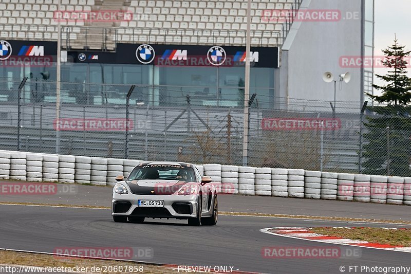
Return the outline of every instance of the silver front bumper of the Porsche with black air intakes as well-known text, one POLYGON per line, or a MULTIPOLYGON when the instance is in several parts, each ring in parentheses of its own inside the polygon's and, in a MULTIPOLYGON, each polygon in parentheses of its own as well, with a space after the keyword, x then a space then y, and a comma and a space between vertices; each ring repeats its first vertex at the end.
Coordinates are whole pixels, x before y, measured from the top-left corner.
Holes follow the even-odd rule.
POLYGON ((197 212, 198 195, 138 195, 113 193, 111 215, 153 218, 189 218, 197 212), (139 207, 138 200, 164 200, 164 207, 139 207))

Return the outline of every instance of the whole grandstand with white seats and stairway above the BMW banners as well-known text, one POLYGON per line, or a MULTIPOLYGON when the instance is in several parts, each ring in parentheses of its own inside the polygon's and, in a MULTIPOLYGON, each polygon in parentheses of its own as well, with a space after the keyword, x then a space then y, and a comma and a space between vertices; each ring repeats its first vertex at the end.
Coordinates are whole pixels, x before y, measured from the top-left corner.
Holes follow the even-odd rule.
MULTIPOLYGON (((0 35, 18 40, 57 40, 59 0, 4 0, 0 35)), ((283 42, 284 20, 264 20, 264 10, 298 9, 301 0, 262 0, 251 5, 252 46, 283 42)), ((132 20, 61 20, 62 45, 71 49, 115 49, 116 43, 244 45, 247 1, 61 0, 60 11, 123 11, 132 20), (86 43, 86 45, 85 45, 86 43)))

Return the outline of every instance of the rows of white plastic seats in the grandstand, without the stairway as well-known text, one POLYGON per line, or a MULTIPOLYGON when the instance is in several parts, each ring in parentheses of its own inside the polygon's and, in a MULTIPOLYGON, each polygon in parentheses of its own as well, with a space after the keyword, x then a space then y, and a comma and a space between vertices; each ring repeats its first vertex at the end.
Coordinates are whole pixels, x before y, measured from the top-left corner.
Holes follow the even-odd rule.
MULTIPOLYGON (((60 0, 60 10, 67 11, 91 11, 95 9, 95 0, 60 0)), ((129 42, 129 38, 125 36, 133 36, 134 42, 144 41, 144 35, 134 34, 140 30, 153 30, 158 32, 159 29, 185 29, 186 35, 180 33, 179 38, 174 39, 167 37, 164 31, 158 34, 150 35, 150 42, 176 42, 182 43, 214 43, 218 38, 219 43, 234 43, 241 45, 244 37, 236 37, 234 34, 222 35, 215 34, 205 35, 202 37, 202 31, 219 31, 224 30, 242 31, 246 29, 246 0, 124 0, 119 2, 118 9, 133 13, 133 20, 129 22, 114 23, 113 26, 119 27, 119 40, 129 42), (120 4, 121 3, 121 4, 120 4), (213 40, 214 39, 214 40, 213 40), (201 41, 201 42, 200 42, 201 41)), ((54 31, 46 26, 52 27, 57 25, 57 20, 54 20, 54 12, 58 10, 59 0, 2 0, 0 3, 0 25, 2 31, 7 31, 8 35, 15 35, 18 39, 23 36, 35 38, 42 36, 46 40, 54 39, 54 31), (24 31, 15 29, 7 30, 3 25, 16 25, 20 28, 23 25, 34 25, 40 29, 39 34, 26 34, 24 31), (43 28, 41 28, 43 26, 43 28), (42 31, 44 29, 44 33, 42 31), (47 34, 46 34, 47 33, 47 34), (23 35, 24 34, 24 35, 23 35)), ((294 4, 294 0, 253 0, 251 5, 251 30, 253 44, 267 45, 277 41, 279 31, 282 30, 282 24, 261 20, 261 14, 265 9, 290 9, 294 4), (275 37, 274 40, 270 40, 275 37), (262 39, 264 38, 264 39, 262 39)), ((98 9, 115 9, 116 1, 98 1, 98 9), (106 2, 106 3, 105 3, 106 2), (104 8, 104 5, 107 5, 104 8)), ((81 28, 84 25, 89 26, 89 23, 78 21, 62 21, 62 26, 76 27, 75 34, 82 33, 81 28), (79 31, 80 30, 80 31, 79 31)), ((97 25, 104 25, 97 24, 97 25)), ((107 24, 110 27, 110 24, 107 24)), ((74 30, 74 29, 73 29, 74 30)), ((27 32, 32 32, 30 29, 27 32)), ((178 31, 177 31, 178 32, 178 31)), ((181 31, 180 31, 181 32, 181 31)), ((142 33, 141 31, 139 33, 142 33)), ((173 34, 170 34, 173 35, 173 34)), ((176 34, 175 34, 176 35, 176 34)), ((241 34, 242 35, 242 34, 241 34)), ((78 37, 78 36, 76 36, 78 37)), ((7 36, 6 36, 7 38, 7 36)), ((69 36, 70 38, 70 36, 69 36)), ((81 44, 81 43, 76 43, 81 44)), ((244 44, 244 43, 243 43, 244 44)))

